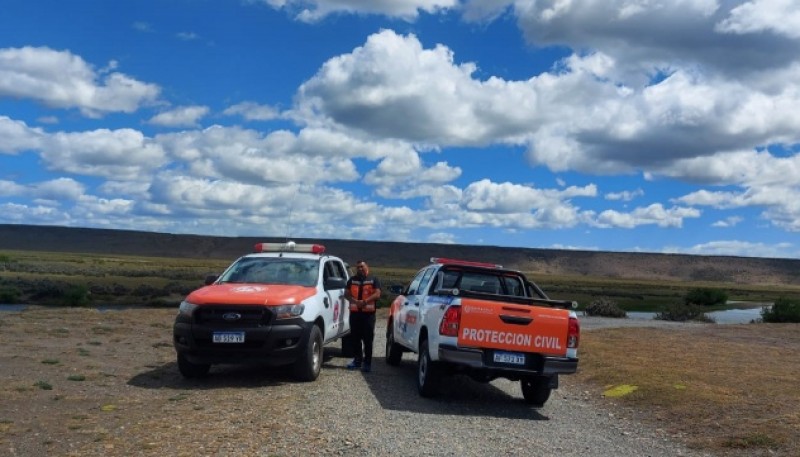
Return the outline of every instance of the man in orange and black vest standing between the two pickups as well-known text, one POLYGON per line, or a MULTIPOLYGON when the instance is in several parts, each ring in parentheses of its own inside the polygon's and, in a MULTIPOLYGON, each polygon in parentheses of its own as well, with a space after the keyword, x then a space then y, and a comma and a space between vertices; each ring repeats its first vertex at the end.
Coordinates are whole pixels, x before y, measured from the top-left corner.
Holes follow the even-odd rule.
POLYGON ((345 298, 350 302, 350 332, 355 358, 348 369, 368 373, 372 369, 372 342, 375 339, 375 310, 381 296, 381 282, 369 274, 367 262, 356 262, 356 275, 347 281, 345 298))

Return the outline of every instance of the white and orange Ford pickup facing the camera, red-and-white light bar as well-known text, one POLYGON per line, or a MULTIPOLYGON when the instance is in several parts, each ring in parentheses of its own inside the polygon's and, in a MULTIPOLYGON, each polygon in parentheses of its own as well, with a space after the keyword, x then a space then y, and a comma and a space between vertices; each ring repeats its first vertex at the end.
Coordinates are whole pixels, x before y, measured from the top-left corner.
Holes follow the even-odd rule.
POLYGON ((178 369, 213 364, 292 365, 313 381, 323 346, 350 333, 345 263, 319 244, 258 243, 181 303, 173 326, 178 369))

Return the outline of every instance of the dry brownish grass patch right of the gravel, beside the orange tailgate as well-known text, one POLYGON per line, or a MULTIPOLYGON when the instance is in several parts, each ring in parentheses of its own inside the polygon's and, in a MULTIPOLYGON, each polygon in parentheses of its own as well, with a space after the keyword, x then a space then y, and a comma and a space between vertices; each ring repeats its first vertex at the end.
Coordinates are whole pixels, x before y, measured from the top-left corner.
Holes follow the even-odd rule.
POLYGON ((595 330, 581 351, 576 380, 694 447, 800 456, 800 324, 595 330))

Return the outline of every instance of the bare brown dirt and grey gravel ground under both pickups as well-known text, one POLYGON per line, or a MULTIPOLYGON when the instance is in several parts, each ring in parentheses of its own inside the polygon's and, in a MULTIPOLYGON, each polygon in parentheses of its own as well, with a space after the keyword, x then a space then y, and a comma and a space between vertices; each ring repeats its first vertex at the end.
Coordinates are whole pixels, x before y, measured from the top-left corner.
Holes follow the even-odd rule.
MULTIPOLYGON (((539 410, 505 380, 452 377, 440 398, 423 399, 414 354, 404 354, 399 367, 384 363, 383 319, 371 373, 348 371, 335 343, 313 383, 296 383, 280 369, 236 366, 188 381, 168 344, 174 312, 72 313, 52 322, 2 315, 0 455, 709 455, 615 414, 569 376, 539 410), (86 381, 65 380, 76 372, 86 381), (37 379, 52 390, 26 387, 37 379)), ((620 325, 676 324, 582 318, 584 331, 620 325)))

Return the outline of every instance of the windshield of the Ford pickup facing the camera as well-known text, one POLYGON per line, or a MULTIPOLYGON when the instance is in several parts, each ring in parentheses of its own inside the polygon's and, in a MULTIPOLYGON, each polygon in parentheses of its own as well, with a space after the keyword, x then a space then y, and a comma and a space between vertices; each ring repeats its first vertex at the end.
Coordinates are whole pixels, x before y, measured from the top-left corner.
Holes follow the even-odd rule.
POLYGON ((245 257, 230 266, 219 282, 291 284, 314 286, 317 284, 319 261, 311 259, 285 259, 276 257, 245 257))

